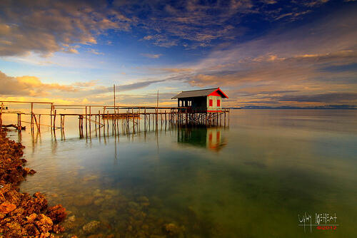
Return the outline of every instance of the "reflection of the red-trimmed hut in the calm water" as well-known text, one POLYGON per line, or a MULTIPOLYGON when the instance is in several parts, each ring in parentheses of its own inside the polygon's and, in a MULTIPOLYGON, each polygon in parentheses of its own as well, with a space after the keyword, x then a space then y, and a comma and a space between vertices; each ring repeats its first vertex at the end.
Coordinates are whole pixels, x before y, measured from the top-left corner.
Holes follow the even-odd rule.
POLYGON ((226 145, 222 128, 181 128, 178 129, 177 141, 213 151, 219 151, 226 145))

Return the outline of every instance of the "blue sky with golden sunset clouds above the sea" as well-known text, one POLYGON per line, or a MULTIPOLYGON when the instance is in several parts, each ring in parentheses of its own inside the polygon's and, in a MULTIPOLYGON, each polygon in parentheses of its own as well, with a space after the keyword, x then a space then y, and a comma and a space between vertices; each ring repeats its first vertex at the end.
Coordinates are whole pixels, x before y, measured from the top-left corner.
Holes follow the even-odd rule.
POLYGON ((0 100, 357 105, 357 1, 0 1, 0 100))

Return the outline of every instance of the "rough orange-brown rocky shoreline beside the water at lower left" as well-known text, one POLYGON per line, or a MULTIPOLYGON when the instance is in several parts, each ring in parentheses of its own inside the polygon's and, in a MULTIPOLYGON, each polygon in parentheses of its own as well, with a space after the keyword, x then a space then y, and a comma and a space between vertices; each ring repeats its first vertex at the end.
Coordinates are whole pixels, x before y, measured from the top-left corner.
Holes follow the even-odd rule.
POLYGON ((40 192, 31 196, 19 191, 26 175, 35 173, 24 167, 23 150, 21 143, 9 140, 0 130, 0 238, 55 237, 64 232, 59 223, 66 218, 66 209, 62 205, 49 207, 40 192))

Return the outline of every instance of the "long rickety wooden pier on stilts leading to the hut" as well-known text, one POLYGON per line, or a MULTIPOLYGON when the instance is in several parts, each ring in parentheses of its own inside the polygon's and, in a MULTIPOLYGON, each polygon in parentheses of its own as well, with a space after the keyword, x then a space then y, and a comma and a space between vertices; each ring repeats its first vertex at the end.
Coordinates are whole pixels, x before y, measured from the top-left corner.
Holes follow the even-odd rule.
MULTIPOLYGON (((131 129, 133 133, 142 128, 170 126, 228 126, 229 109, 222 108, 216 112, 193 110, 190 107, 149 107, 149 106, 124 106, 124 105, 56 105, 51 102, 21 102, 21 101, 0 101, 4 103, 25 103, 29 105, 29 112, 3 110, 0 109, 0 130, 4 115, 17 114, 17 123, 14 126, 17 130, 24 130, 24 124, 29 124, 31 133, 41 132, 41 127, 48 127, 55 133, 61 130, 64 133, 65 120, 69 117, 78 118, 78 128, 80 137, 91 136, 92 128, 96 135, 108 133, 109 125, 111 130, 116 131, 119 127, 122 130, 131 129), (36 113, 34 105, 48 105, 48 113, 36 113), (68 113, 68 111, 81 110, 83 113, 68 113), (30 116, 30 121, 23 120, 24 116, 30 116), (49 117, 49 123, 44 123, 41 116, 49 117), (107 130, 104 130, 104 128, 107 130), (97 131, 97 129, 99 129, 97 131)), ((42 108, 44 109, 44 108, 42 108)), ((44 111, 44 110, 42 110, 44 111)), ((119 130, 118 130, 119 132, 119 130)))

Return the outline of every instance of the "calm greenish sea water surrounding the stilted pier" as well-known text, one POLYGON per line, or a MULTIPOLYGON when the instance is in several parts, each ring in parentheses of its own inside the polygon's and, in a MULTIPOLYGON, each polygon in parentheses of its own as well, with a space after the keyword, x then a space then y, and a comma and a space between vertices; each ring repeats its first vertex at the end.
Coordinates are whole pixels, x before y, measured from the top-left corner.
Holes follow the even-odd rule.
POLYGON ((233 110, 229 128, 79 138, 77 120, 66 119, 65 135, 9 135, 37 171, 21 190, 64 205, 66 234, 356 237, 356 118, 357 110, 233 110), (336 229, 298 225, 321 213, 336 217, 327 222, 336 229), (100 223, 84 231, 91 221, 100 223))

